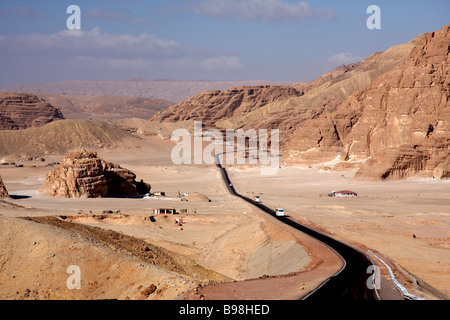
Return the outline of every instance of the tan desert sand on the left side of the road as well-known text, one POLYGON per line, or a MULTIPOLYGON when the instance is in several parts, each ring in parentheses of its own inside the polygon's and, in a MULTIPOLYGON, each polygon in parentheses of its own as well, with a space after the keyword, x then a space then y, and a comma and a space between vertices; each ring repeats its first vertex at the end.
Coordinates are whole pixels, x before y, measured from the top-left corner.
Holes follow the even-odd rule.
MULTIPOLYGON (((148 141, 151 147, 145 150, 99 150, 99 155, 129 168, 137 179, 150 182, 152 192, 164 191, 165 197, 49 198, 37 191, 53 167, 22 161, 23 167, 0 169, 12 197, 0 206, 0 279, 5 289, 1 298, 182 299, 189 290, 211 282, 236 283, 268 276, 282 279, 314 269, 317 276, 303 283, 301 290, 302 282, 297 279, 299 285, 283 290, 280 296, 297 298, 342 267, 330 249, 314 243, 317 248, 310 250, 305 244, 310 245, 311 239, 229 195, 215 167, 175 166, 168 156, 173 146, 170 141, 155 137, 148 141), (178 195, 184 193, 194 196, 181 201, 178 195), (172 207, 185 212, 176 216, 152 214, 155 208, 172 207), (55 219, 61 222, 58 227, 55 219), (175 219, 182 223, 176 224, 175 219), (70 223, 102 228, 111 234, 97 239, 91 231, 80 232, 70 223), (169 250, 176 261, 188 259, 207 271, 198 274, 199 267, 195 267, 179 273, 158 257, 160 264, 155 266, 153 260, 143 260, 139 250, 117 247, 114 240, 119 236, 169 250), (65 271, 70 265, 81 269, 85 279, 81 290, 66 286, 69 275, 65 271), (157 289, 145 294, 152 284, 157 289)), ((62 155, 49 156, 46 163, 61 159, 62 155)))

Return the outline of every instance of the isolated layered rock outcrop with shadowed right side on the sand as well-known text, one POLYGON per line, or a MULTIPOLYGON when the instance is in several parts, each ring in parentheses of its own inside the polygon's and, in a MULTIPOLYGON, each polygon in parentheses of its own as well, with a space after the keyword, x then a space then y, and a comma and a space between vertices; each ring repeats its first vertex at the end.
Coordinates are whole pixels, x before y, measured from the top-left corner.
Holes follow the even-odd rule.
POLYGON ((59 167, 47 174, 39 193, 52 197, 140 197, 150 185, 119 165, 105 162, 96 152, 79 150, 67 154, 59 167))

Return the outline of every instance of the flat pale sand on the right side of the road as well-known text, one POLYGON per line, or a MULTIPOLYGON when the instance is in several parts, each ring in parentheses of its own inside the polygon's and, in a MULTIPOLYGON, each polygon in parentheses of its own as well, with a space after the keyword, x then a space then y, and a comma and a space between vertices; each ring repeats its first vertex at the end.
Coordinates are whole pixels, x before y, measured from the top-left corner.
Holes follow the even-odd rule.
POLYGON ((317 168, 283 167, 264 178, 257 168, 232 168, 230 175, 242 194, 261 195, 266 205, 283 207, 295 220, 365 252, 379 252, 419 283, 450 293, 450 181, 361 182, 352 180, 354 171, 317 168), (333 190, 358 197, 328 197, 333 190))

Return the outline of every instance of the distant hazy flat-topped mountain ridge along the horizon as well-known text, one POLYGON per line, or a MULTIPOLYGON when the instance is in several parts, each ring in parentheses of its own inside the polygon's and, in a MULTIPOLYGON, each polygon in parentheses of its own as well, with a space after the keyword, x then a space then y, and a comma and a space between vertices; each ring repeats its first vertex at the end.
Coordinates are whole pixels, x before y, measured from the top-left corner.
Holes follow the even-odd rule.
POLYGON ((236 86, 283 84, 271 81, 207 81, 207 80, 146 80, 123 81, 80 80, 42 84, 19 84, 0 92, 33 92, 36 94, 122 96, 159 98, 179 103, 207 90, 226 90, 236 86))

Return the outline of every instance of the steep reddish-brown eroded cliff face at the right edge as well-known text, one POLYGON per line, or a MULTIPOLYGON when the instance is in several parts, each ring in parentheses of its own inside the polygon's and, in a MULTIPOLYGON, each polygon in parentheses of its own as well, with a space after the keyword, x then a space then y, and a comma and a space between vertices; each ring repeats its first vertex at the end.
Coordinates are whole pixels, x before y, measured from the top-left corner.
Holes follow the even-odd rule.
MULTIPOLYGON (((306 121, 288 145, 291 163, 365 160, 360 179, 431 177, 450 154, 450 26, 426 34, 406 61, 306 121)), ((445 176, 445 175, 444 175, 445 176)))

